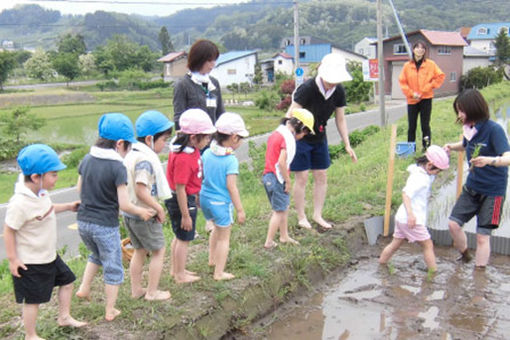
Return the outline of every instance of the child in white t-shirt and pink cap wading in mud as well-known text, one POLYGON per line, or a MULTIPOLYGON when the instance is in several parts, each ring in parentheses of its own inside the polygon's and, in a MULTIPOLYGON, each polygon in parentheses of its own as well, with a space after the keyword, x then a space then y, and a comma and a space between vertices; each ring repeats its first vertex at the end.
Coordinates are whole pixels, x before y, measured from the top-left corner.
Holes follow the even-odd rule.
POLYGON ((435 176, 448 167, 448 154, 437 145, 429 146, 425 156, 417 158, 416 164, 409 165, 407 171, 410 175, 402 189, 402 204, 395 215, 393 240, 382 251, 379 263, 386 264, 404 240, 411 243, 418 241, 423 248, 429 273, 436 271, 434 245, 426 227, 427 201, 435 176))

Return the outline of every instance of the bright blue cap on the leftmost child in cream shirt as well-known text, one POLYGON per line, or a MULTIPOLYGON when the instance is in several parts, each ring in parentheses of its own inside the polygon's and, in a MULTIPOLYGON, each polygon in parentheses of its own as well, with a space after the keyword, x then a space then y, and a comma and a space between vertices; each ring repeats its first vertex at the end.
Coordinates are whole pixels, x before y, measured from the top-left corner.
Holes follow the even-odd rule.
POLYGON ((24 175, 42 175, 50 171, 60 171, 67 168, 60 161, 55 150, 45 144, 25 146, 19 152, 17 161, 24 175))

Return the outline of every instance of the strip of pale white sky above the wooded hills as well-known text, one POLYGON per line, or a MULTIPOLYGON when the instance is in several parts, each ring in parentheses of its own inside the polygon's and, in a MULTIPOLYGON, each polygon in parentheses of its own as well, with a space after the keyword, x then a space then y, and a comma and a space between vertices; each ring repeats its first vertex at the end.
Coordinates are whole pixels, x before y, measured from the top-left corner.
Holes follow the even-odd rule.
POLYGON ((0 0, 0 11, 21 4, 38 4, 62 14, 86 14, 97 10, 140 14, 146 16, 168 16, 185 8, 211 7, 246 2, 247 0, 0 0), (207 6, 209 5, 209 6, 207 6))

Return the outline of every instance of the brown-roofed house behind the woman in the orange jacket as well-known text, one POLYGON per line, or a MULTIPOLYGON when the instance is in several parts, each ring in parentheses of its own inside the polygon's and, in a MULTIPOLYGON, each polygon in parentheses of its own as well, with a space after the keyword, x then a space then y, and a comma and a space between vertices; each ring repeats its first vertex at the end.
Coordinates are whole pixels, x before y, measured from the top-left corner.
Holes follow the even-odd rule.
MULTIPOLYGON (((417 40, 427 44, 427 58, 432 59, 446 75, 443 85, 434 91, 437 96, 452 95, 459 91, 462 75, 463 48, 467 45, 459 32, 418 30, 407 34, 412 48, 417 40)), ((392 98, 404 98, 398 77, 404 63, 409 60, 400 35, 383 41, 384 89, 392 98)))

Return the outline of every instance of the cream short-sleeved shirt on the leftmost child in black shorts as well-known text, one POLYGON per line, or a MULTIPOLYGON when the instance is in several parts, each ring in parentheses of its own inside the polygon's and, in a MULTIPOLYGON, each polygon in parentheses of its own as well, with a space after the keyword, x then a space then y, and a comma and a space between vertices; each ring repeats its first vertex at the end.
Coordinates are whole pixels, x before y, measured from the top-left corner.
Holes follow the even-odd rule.
POLYGON ((48 194, 38 197, 17 183, 5 223, 16 231, 16 252, 25 264, 44 264, 57 257, 57 217, 48 194))

